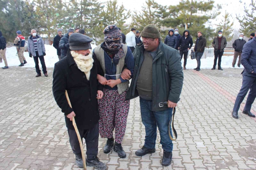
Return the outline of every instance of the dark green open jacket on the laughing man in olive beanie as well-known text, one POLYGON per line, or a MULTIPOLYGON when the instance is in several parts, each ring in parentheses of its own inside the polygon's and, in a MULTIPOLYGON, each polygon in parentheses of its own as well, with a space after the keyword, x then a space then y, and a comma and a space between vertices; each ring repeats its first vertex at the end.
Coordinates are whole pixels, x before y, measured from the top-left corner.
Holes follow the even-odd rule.
MULTIPOLYGON (((131 85, 126 95, 126 100, 139 96, 136 83, 139 77, 140 68, 144 59, 144 46, 136 46, 133 53, 135 57, 134 74, 131 85)), ((183 85, 183 71, 181 67, 180 53, 160 42, 157 56, 153 60, 153 88, 152 88, 152 110, 161 111, 168 108, 167 105, 159 107, 159 103, 172 101, 177 103, 183 85)))

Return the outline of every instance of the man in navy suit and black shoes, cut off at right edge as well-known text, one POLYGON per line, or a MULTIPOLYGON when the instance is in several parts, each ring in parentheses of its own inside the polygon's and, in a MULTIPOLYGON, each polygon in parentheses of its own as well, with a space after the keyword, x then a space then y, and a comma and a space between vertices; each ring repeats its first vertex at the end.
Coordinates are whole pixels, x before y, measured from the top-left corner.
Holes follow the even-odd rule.
MULTIPOLYGON (((256 32, 255 32, 256 33, 256 32)), ((243 48, 241 56, 241 64, 244 66, 243 74, 243 83, 242 87, 237 94, 235 105, 232 111, 232 117, 238 119, 238 110, 240 104, 243 102, 248 90, 246 104, 243 110, 244 114, 247 114, 249 117, 255 118, 255 115, 250 112, 252 104, 256 97, 256 37, 248 41, 243 48)))

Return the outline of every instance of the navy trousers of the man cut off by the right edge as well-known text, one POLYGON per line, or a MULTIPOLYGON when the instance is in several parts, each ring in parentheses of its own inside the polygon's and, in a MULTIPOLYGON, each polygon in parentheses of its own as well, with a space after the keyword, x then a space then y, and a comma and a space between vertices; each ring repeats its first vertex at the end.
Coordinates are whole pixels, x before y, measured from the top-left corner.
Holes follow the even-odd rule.
MULTIPOLYGON (((245 70, 246 71, 246 70, 245 70)), ((236 101, 234 104, 233 111, 238 112, 240 108, 240 104, 243 102, 248 90, 250 89, 250 92, 248 94, 244 110, 250 111, 252 108, 252 104, 256 97, 256 77, 250 77, 243 75, 243 82, 242 87, 237 94, 236 101)))

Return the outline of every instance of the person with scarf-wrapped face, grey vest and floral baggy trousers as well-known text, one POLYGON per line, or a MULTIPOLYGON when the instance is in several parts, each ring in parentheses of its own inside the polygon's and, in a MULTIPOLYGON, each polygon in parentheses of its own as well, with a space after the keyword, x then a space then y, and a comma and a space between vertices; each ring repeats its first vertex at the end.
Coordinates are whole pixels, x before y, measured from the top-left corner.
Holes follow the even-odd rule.
POLYGON ((134 57, 130 48, 121 43, 122 35, 116 25, 107 26, 103 33, 104 42, 93 51, 104 71, 104 76, 98 75, 99 82, 104 85, 104 96, 99 100, 100 136, 108 138, 103 148, 104 153, 109 153, 114 146, 118 156, 125 158, 126 153, 121 143, 125 135, 130 101, 125 100, 129 81, 122 79, 121 73, 126 65, 130 75, 133 75, 134 57))

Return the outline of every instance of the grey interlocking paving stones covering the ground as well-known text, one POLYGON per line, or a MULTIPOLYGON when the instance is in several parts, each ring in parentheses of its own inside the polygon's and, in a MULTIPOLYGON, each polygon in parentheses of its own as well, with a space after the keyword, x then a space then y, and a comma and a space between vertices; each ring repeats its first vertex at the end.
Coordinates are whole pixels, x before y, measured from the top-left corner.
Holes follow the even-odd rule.
MULTIPOLYGON (((241 69, 184 70, 184 85, 175 116, 178 139, 170 166, 161 166, 163 149, 137 157, 145 139, 138 98, 131 100, 123 141, 127 157, 103 153, 109 170, 244 170, 256 169, 256 119, 241 113, 231 117, 241 87, 241 69)), ((71 150, 61 109, 52 94, 52 73, 36 78, 34 68, 0 70, 0 169, 79 170, 71 150)), ((252 112, 255 113, 256 104, 252 112)), ((88 167, 88 170, 93 168, 88 167)))

